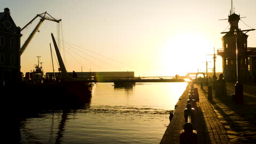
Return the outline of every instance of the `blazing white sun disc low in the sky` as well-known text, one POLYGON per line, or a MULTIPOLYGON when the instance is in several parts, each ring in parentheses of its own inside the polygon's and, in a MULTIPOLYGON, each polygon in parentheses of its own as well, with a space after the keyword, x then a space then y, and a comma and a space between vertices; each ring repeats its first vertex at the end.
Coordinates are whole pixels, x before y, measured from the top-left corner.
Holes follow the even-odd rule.
MULTIPOLYGON (((170 74, 185 75, 204 69, 210 41, 197 32, 183 32, 170 38, 161 49, 161 67, 170 74)), ((212 61, 212 59, 210 60, 212 61)))

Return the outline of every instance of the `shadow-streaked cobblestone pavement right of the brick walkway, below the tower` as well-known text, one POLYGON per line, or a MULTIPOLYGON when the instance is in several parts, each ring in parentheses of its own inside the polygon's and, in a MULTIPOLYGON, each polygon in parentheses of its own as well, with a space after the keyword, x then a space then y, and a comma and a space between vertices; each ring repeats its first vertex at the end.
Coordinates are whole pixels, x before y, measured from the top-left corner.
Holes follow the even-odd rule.
POLYGON ((235 83, 227 82, 226 87, 228 95, 224 98, 213 97, 211 104, 224 125, 230 143, 256 143, 256 85, 243 85, 242 105, 232 100, 235 83))

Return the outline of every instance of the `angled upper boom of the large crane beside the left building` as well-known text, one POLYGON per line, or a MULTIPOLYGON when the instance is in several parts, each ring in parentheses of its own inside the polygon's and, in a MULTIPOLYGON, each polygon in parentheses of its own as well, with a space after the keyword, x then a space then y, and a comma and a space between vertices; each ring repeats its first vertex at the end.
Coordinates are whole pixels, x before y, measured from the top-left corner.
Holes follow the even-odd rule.
POLYGON ((56 20, 54 19, 53 16, 49 15, 46 11, 42 14, 37 14, 36 17, 34 17, 34 19, 32 19, 30 22, 27 23, 26 26, 24 26, 23 28, 21 28, 20 31, 22 31, 24 28, 26 28, 28 25, 30 25, 35 19, 37 19, 37 17, 41 17, 40 21, 38 22, 37 26, 34 28, 34 30, 32 31, 32 33, 30 34, 30 36, 27 38, 27 40, 25 41, 25 43, 21 46, 20 48, 20 55, 22 55, 22 53, 25 51, 25 49, 27 48, 28 44, 30 44, 30 41, 32 40, 32 38, 34 37, 34 34, 36 34, 36 32, 38 31, 38 28, 42 25, 44 20, 49 20, 49 21, 54 21, 59 23, 61 21, 60 20, 56 20))

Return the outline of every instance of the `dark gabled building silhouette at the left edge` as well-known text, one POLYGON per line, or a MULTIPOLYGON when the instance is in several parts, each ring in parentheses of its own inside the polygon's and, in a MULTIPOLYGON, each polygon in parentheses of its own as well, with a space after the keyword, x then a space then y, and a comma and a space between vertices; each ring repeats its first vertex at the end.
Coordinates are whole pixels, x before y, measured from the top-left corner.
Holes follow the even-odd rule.
POLYGON ((0 13, 0 87, 18 83, 20 74, 20 27, 10 16, 10 10, 0 13))

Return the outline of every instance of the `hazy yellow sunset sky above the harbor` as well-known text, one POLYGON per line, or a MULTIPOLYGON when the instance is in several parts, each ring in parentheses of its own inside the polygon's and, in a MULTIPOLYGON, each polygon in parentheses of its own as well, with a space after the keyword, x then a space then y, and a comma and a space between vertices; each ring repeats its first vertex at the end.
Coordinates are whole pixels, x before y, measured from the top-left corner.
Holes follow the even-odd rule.
MULTIPOLYGON (((223 31, 229 31, 231 0, 94 0, 3 1, 16 26, 24 27, 47 11, 62 19, 62 58, 68 71, 135 71, 135 76, 174 76, 213 68, 213 47, 222 48, 223 31), (63 39, 62 39, 63 38, 63 39), (63 47, 64 46, 64 47, 63 47), (64 53, 65 52, 65 53, 64 53)), ((256 27, 256 1, 233 0, 241 29, 256 27)), ((21 46, 39 17, 22 31, 21 46)), ((34 69, 37 56, 44 73, 53 71, 50 34, 57 24, 45 20, 21 56, 21 71, 34 69)), ((256 47, 256 31, 248 32, 248 47, 256 47)), ((54 68, 58 65, 54 58, 54 68)), ((222 72, 217 57, 216 71, 222 72)))

